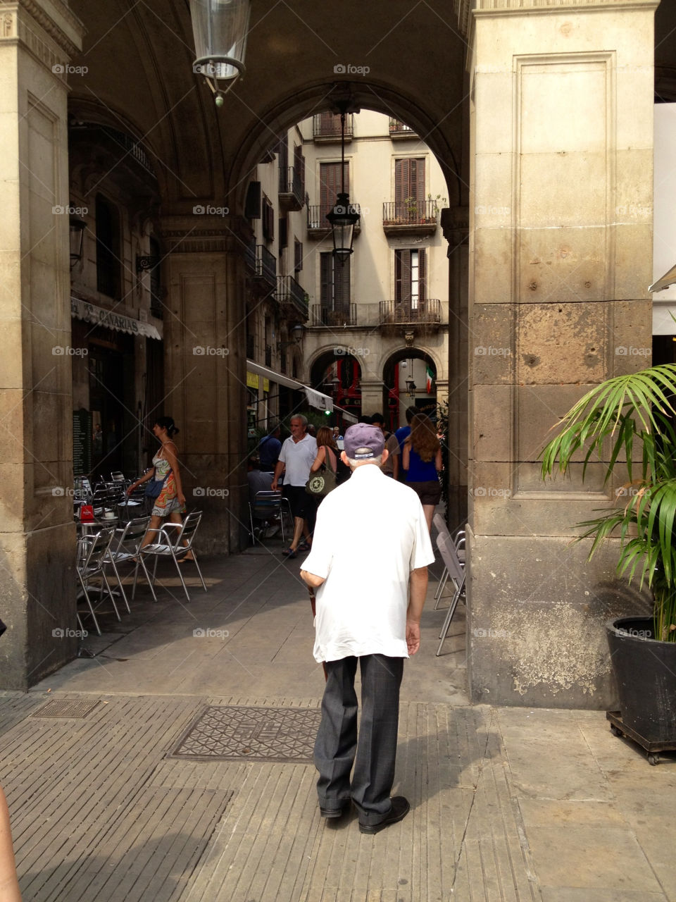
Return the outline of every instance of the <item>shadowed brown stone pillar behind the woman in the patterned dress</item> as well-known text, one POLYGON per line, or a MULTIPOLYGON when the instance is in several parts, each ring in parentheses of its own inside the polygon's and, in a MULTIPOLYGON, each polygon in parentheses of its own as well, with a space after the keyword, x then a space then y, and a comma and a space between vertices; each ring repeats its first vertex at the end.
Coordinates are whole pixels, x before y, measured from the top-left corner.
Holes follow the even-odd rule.
POLYGON ((177 445, 188 510, 204 511, 196 545, 241 550, 248 531, 244 244, 232 216, 165 216, 164 415, 177 445))

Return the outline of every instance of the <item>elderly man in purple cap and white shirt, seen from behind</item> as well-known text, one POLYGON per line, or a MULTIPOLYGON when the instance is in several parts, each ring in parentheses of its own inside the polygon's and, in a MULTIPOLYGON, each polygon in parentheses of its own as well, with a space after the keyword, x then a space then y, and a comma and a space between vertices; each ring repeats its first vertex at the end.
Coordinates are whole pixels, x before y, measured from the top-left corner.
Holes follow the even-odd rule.
POLYGON ((308 585, 320 587, 314 654, 325 662, 326 687, 315 741, 319 811, 340 817, 352 799, 361 833, 378 833, 409 810, 404 796, 390 798, 399 686, 404 658, 420 646, 427 565, 434 561, 416 492, 380 472, 384 445, 375 426, 360 423, 345 432, 342 458, 352 477, 320 505, 300 571, 308 585))

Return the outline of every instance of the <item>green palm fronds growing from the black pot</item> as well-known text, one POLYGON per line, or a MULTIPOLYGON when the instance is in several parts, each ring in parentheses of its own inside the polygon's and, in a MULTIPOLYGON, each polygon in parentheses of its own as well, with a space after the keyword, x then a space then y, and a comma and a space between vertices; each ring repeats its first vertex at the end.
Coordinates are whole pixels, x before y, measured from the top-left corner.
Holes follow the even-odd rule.
POLYGON ((542 465, 543 478, 565 474, 580 452, 583 479, 593 457, 605 466, 604 485, 612 474, 625 481, 628 500, 620 493, 612 510, 578 524, 584 531, 575 540, 593 538, 592 557, 607 538, 619 538, 617 573, 651 587, 654 636, 667 641, 676 641, 674 396, 676 364, 601 382, 554 427, 542 465))

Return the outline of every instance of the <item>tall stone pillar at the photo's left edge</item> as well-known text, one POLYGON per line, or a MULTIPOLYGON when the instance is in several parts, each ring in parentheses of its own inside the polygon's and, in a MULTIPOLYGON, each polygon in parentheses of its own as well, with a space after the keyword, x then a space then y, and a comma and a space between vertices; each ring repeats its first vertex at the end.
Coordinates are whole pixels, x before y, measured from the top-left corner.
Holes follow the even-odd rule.
POLYGON ((52 0, 0 11, 0 686, 73 658, 69 60, 83 29, 52 0))

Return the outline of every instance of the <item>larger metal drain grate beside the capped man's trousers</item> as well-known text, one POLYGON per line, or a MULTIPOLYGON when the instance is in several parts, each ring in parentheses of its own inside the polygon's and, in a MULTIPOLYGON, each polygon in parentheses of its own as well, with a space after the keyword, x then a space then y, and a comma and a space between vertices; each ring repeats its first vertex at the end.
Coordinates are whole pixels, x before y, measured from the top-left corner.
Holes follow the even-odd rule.
POLYGON ((316 708, 209 706, 183 733, 169 758, 311 764, 321 717, 316 708))

